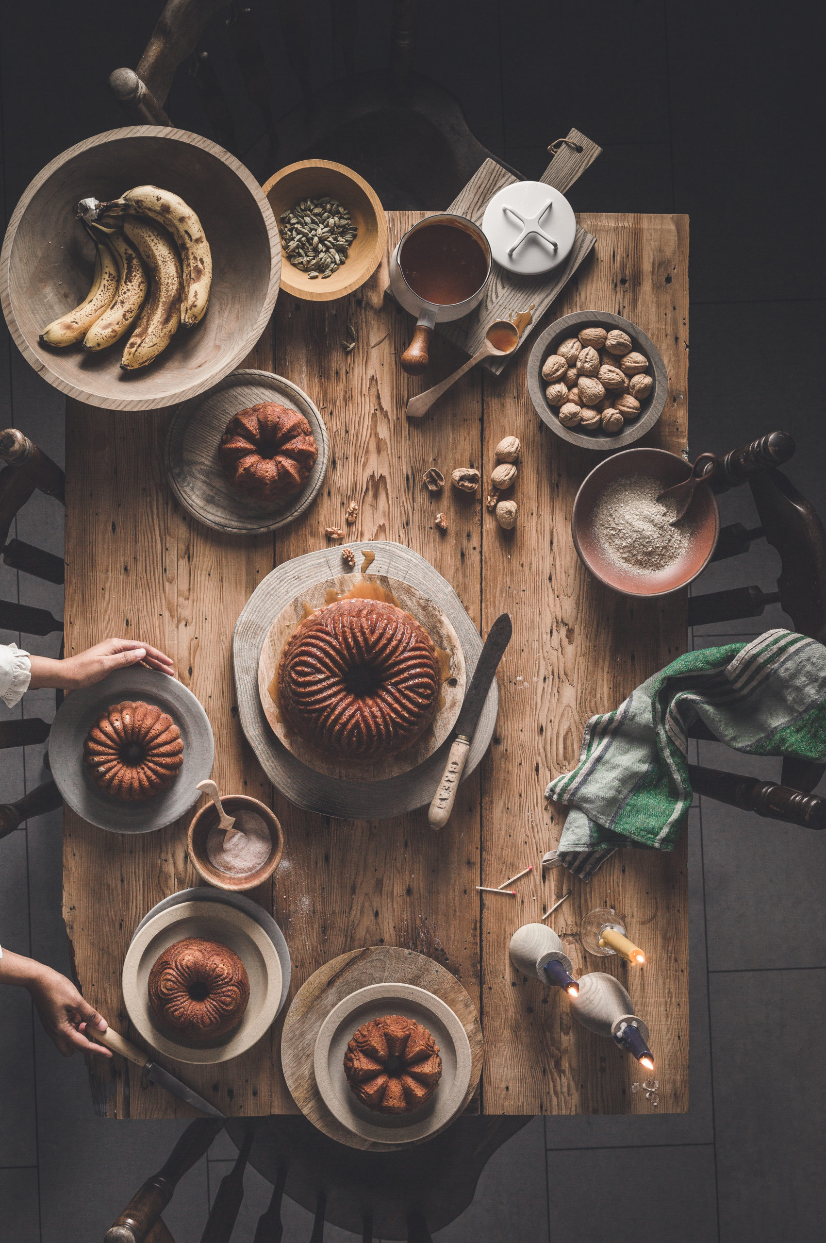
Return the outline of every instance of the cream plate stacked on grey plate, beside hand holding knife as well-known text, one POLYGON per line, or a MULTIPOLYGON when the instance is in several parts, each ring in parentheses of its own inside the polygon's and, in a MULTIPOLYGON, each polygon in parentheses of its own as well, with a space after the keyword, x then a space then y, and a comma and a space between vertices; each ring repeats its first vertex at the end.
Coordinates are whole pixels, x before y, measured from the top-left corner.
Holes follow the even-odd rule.
POLYGON ((212 1065, 252 1048, 268 1030, 281 1004, 281 962, 271 938, 246 911, 221 902, 180 902, 159 911, 132 938, 123 962, 123 999, 134 1028, 158 1053, 176 1062, 212 1065), (227 946, 250 977, 250 1002, 240 1024, 209 1047, 173 1037, 157 1023, 149 1004, 149 972, 155 960, 186 937, 227 946))

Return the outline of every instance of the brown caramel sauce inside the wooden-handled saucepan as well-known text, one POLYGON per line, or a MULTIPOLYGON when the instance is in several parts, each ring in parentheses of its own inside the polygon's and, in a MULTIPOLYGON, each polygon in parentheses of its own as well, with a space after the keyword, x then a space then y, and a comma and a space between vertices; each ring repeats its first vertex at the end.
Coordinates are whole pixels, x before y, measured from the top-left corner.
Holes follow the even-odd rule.
POLYGON ((420 298, 452 306, 473 297, 488 275, 488 257, 473 234, 442 221, 410 234, 399 255, 401 273, 420 298))

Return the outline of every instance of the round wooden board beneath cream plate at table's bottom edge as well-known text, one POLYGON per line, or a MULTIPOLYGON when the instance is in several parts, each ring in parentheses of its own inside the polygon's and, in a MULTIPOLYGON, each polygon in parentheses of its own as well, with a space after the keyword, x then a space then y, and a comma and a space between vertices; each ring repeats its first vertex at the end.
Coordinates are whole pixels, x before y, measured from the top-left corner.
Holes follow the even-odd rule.
POLYGON ((315 1081, 314 1049, 322 1024, 339 1002, 371 984, 394 984, 396 989, 414 984, 445 1002, 461 1023, 471 1052, 471 1074, 457 1114, 467 1108, 482 1074, 482 1028, 473 1002, 450 971, 424 953, 396 946, 366 946, 332 958, 296 993, 281 1037, 281 1065, 302 1114, 339 1144, 380 1152, 397 1151, 420 1140, 388 1142, 358 1135, 328 1109, 315 1081))

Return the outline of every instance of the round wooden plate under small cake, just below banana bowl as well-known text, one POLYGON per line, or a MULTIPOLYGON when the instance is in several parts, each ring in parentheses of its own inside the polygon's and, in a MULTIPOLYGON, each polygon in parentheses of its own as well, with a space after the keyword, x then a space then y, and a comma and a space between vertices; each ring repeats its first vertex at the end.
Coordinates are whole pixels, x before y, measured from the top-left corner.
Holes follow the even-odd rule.
POLYGON ((176 411, 166 436, 165 462, 173 492, 194 518, 216 531, 252 536, 286 527, 309 508, 324 482, 329 456, 324 420, 303 389, 271 372, 237 370, 176 411), (232 415, 260 401, 278 401, 298 410, 318 445, 318 457, 304 487, 277 506, 232 487, 217 455, 232 415))

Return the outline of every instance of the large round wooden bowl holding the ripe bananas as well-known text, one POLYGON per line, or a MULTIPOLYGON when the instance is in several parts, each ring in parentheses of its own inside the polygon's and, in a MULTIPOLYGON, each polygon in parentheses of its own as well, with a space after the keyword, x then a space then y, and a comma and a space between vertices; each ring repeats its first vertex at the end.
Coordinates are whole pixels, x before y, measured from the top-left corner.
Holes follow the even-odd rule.
POLYGON ((204 393, 238 365, 272 313, 279 272, 276 221, 243 164, 197 134, 132 126, 87 138, 37 174, 6 230, 0 300, 21 353, 61 393, 109 410, 152 410, 204 393), (134 373, 120 370, 123 343, 99 354, 42 346, 46 324, 77 306, 92 281, 78 200, 145 183, 179 194, 200 216, 214 265, 204 319, 134 373))

